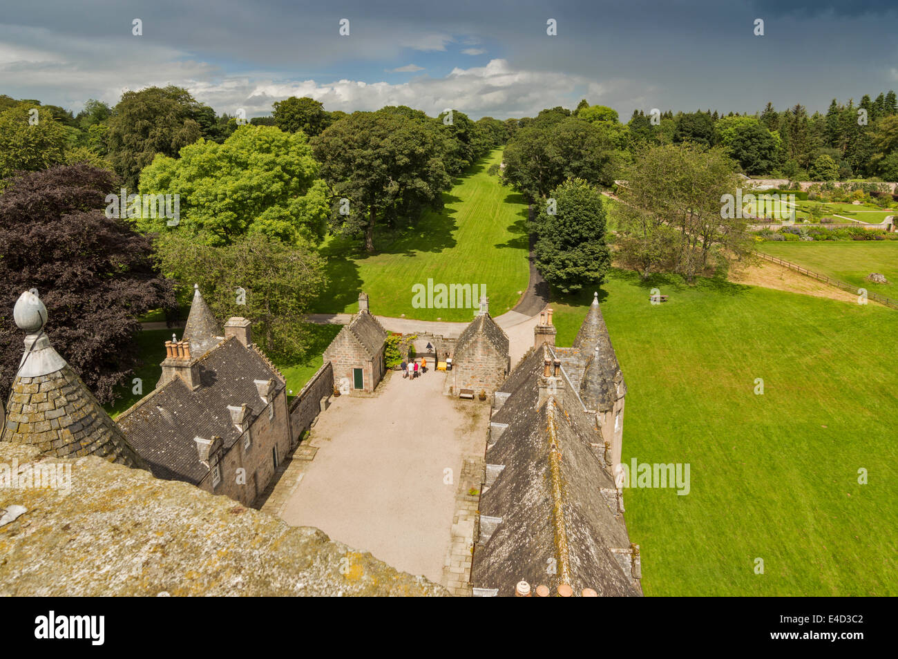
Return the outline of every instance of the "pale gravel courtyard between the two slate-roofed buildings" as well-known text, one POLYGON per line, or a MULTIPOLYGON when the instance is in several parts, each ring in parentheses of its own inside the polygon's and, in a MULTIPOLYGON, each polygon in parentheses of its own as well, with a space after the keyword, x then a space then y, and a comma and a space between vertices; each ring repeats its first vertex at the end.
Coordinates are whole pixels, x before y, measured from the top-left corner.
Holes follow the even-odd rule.
POLYGON ((488 405, 443 395, 444 381, 392 371, 374 395, 333 399, 303 443, 318 450, 290 484, 286 523, 444 582, 462 464, 482 460, 489 426, 488 405))

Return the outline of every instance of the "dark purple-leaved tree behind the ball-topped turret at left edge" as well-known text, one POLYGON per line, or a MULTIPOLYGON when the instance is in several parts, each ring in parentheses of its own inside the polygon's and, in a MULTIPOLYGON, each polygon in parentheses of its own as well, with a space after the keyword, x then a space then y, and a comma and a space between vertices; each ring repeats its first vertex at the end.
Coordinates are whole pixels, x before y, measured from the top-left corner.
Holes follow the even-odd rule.
POLYGON ((137 319, 174 304, 171 283, 154 269, 150 238, 104 212, 113 176, 82 163, 0 183, 3 400, 22 357, 24 334, 13 321, 22 291, 38 289, 53 346, 101 402, 138 365, 137 319))

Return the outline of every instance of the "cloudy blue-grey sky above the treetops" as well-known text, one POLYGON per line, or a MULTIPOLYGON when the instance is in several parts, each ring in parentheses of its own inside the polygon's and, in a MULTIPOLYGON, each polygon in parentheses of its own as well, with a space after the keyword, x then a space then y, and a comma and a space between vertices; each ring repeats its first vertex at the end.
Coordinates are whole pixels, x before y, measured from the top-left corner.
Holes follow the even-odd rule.
POLYGON ((114 105, 126 90, 176 84, 248 118, 291 95, 325 110, 409 105, 472 119, 583 98, 624 121, 634 109, 754 112, 768 101, 813 113, 898 89, 896 19, 898 3, 883 0, 0 0, 0 93, 76 113, 91 98, 114 105))

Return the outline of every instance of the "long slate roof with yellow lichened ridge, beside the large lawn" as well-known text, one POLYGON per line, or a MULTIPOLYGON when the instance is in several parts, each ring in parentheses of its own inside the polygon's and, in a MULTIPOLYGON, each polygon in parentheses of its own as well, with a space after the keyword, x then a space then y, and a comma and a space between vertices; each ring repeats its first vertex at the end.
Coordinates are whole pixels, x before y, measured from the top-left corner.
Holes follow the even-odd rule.
MULTIPOLYGON (((587 320, 581 344, 600 338, 595 317, 587 314, 587 320)), ((551 592, 567 583, 575 593, 642 594, 612 553, 630 542, 622 515, 601 494, 615 487, 591 445, 601 441, 594 415, 578 396, 581 382, 592 381, 589 373, 584 377, 587 362, 578 347, 543 345, 524 356, 500 390, 508 396, 490 420, 507 427, 489 446, 486 462, 504 468, 480 496, 481 542, 471 567, 476 588, 510 596, 524 580, 551 592), (561 360, 563 388, 537 407, 546 358, 561 360), (484 517, 501 519, 485 540, 484 517), (555 575, 547 571, 550 561, 555 575)))

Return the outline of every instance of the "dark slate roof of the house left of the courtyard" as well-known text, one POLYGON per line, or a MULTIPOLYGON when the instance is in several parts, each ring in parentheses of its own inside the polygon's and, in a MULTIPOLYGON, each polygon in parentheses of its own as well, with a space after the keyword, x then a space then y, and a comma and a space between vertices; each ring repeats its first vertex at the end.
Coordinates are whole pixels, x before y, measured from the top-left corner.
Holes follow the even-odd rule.
POLYGON ((280 373, 259 352, 228 338, 199 358, 196 391, 175 377, 124 412, 119 426, 154 476, 197 485, 208 468, 199 461, 194 437, 221 437, 226 453, 242 435, 227 407, 245 403, 254 419, 266 405, 253 381, 270 379, 277 397, 286 386, 280 373))

